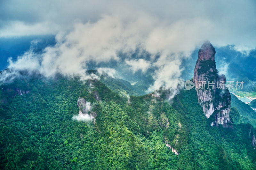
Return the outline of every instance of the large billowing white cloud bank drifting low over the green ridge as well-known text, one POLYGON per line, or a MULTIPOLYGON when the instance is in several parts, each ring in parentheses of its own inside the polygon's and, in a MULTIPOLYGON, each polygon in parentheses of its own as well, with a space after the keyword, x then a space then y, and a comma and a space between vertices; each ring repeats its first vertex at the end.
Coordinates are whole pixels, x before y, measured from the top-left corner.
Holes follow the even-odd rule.
MULTIPOLYGON (((60 72, 68 77, 80 76, 85 80, 91 78, 85 74, 87 63, 119 61, 119 51, 129 54, 139 47, 151 54, 149 61, 126 59, 125 63, 133 72, 145 72, 151 65, 156 68, 153 76, 155 83, 149 90, 157 90, 162 85, 175 90, 180 84, 180 60, 188 57, 196 48, 195 44, 200 44, 208 31, 214 29, 214 25, 200 18, 166 25, 145 13, 129 22, 122 17, 104 15, 95 23, 77 23, 71 32, 56 35, 57 44, 54 47, 45 48, 41 55, 29 52, 17 62, 10 60, 10 67, 28 70, 38 68, 45 76, 60 72), (191 32, 194 34, 191 35, 191 32), (155 59, 156 55, 160 57, 155 59)), ((113 70, 102 68, 99 71, 108 71, 114 76, 113 70)))

